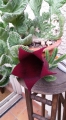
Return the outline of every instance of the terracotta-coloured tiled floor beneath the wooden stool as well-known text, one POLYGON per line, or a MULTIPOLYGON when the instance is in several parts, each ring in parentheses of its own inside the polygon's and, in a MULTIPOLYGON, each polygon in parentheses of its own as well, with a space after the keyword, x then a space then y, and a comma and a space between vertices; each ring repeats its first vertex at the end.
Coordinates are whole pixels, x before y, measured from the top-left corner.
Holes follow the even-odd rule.
MULTIPOLYGON (((35 113, 41 113, 41 107, 37 103, 33 102, 33 110, 35 113)), ((46 111, 46 115, 48 113, 46 111)), ((14 107, 12 107, 6 114, 4 114, 0 120, 28 120, 25 98, 20 100, 14 107)), ((36 120, 36 119, 35 119, 36 120)))

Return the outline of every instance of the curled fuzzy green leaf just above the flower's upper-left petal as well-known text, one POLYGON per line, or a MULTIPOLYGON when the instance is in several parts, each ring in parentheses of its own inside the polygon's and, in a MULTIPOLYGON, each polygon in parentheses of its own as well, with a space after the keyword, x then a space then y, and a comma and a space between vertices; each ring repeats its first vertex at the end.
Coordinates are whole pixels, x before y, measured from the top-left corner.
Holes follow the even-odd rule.
POLYGON ((15 45, 29 45, 32 42, 32 35, 29 34, 24 39, 21 39, 21 36, 17 32, 10 32, 7 39, 8 48, 15 45))

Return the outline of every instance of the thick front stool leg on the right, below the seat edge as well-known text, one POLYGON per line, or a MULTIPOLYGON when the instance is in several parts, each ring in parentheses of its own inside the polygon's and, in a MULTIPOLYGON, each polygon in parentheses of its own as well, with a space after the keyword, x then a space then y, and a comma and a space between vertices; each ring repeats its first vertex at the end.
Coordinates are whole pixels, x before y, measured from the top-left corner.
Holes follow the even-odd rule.
POLYGON ((58 104, 58 94, 53 95, 52 98, 51 120, 56 120, 57 104, 58 104))

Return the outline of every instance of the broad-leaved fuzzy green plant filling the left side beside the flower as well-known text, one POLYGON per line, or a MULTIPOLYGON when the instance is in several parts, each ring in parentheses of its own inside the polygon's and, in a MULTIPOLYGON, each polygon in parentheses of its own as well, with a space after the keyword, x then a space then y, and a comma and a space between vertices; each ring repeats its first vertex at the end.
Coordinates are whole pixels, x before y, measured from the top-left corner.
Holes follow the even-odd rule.
POLYGON ((27 4, 28 0, 0 0, 0 87, 8 84, 11 71, 19 62, 16 57, 19 47, 27 49, 23 45, 32 41, 31 34, 22 38, 20 33, 22 28, 25 32, 23 22, 27 4))

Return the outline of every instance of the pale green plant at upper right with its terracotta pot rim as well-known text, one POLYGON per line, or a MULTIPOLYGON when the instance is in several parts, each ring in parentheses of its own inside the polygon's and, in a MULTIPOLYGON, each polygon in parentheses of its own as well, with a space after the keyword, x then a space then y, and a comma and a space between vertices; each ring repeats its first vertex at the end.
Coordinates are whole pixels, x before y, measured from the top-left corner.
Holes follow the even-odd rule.
MULTIPOLYGON (((65 19, 60 8, 65 4, 65 1, 44 0, 44 3, 45 2, 48 10, 47 12, 43 11, 42 13, 41 9, 43 0, 30 0, 29 2, 29 6, 34 14, 34 19, 32 20, 33 25, 30 28, 30 33, 33 32, 34 37, 36 36, 40 39, 38 39, 38 43, 41 42, 42 46, 47 43, 48 47, 46 49, 51 50, 54 46, 57 47, 61 43, 65 19), (52 44, 49 40, 55 41, 54 44, 49 46, 52 44)), ((34 42, 37 42, 36 39, 34 42)))

